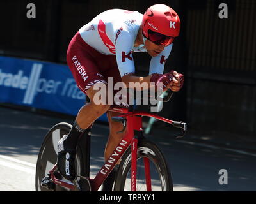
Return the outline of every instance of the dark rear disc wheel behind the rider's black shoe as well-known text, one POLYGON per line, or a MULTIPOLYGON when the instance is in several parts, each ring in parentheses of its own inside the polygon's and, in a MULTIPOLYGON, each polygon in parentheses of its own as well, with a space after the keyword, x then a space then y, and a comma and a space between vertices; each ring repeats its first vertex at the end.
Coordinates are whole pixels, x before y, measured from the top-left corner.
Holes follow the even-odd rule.
MULTIPOLYGON (((44 137, 44 141, 41 145, 40 152, 38 154, 38 159, 36 162, 36 182, 35 189, 36 191, 49 191, 48 189, 42 187, 40 185, 41 180, 47 176, 47 173, 51 170, 51 168, 56 164, 57 161, 57 142, 62 138, 63 135, 69 133, 72 126, 66 122, 60 122, 53 126, 48 133, 44 137)), ((81 156, 82 150, 79 145, 77 145, 76 149, 76 173, 79 175, 83 175, 83 166, 84 160, 81 156)), ((64 178, 61 178, 65 180, 64 178)), ((67 180, 68 181, 68 180, 67 180)), ((61 187, 56 185, 55 191, 70 191, 65 187, 61 187)))

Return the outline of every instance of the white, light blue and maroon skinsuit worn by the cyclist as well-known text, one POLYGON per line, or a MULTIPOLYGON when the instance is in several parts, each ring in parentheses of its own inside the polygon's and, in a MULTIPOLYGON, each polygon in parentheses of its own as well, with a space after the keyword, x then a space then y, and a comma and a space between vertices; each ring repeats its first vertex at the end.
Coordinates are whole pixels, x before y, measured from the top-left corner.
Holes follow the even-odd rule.
MULTIPOLYGON (((135 73, 132 52, 147 52, 144 45, 134 47, 143 15, 138 11, 112 9, 97 15, 79 29, 67 51, 67 63, 79 88, 86 92, 97 82, 114 82, 135 73), (118 76, 117 76, 118 75, 118 76)), ((172 44, 152 57, 149 73, 163 73, 172 44)))

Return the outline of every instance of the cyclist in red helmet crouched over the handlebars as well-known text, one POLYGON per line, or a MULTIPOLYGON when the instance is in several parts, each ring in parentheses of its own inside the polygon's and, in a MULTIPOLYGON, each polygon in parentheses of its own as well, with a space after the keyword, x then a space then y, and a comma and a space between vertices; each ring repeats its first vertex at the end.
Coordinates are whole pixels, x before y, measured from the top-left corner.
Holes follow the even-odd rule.
MULTIPOLYGON (((113 83, 154 82, 156 87, 163 83, 164 91, 170 88, 179 91, 184 77, 176 71, 163 74, 164 62, 170 55, 172 43, 179 36, 180 19, 177 13, 164 4, 150 6, 145 14, 138 11, 112 9, 104 11, 79 29, 70 41, 67 50, 67 64, 77 86, 88 96, 90 103, 77 114, 74 126, 58 142, 58 170, 68 180, 75 179, 74 155, 77 141, 90 125, 108 111, 110 104, 96 104, 93 97, 95 84, 108 86, 108 77, 113 83), (134 75, 132 52, 148 52, 152 57, 147 77, 134 75)), ((139 84, 140 84, 139 83, 139 84)), ((108 90, 108 89, 106 89, 108 90)), ((109 92, 106 92, 108 98, 109 92)), ((124 133, 116 133, 122 124, 111 117, 120 113, 108 112, 109 138, 104 152, 108 159, 124 133)), ((102 191, 111 191, 116 168, 104 181, 102 191)))

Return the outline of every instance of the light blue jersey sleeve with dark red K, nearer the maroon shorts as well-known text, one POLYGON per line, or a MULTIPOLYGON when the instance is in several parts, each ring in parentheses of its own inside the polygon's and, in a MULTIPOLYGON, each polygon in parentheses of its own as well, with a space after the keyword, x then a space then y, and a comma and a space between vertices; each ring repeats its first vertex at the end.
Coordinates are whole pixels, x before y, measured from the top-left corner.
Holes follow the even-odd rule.
POLYGON ((117 62, 121 77, 135 72, 135 66, 134 66, 134 61, 132 57, 133 43, 134 43, 134 36, 132 36, 129 33, 129 31, 123 29, 117 35, 116 62, 117 62))

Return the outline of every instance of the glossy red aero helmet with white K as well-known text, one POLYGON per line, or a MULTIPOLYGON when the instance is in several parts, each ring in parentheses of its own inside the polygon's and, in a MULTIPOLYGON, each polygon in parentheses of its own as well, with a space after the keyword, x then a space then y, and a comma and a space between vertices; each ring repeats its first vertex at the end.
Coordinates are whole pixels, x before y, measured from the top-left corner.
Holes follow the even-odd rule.
POLYGON ((143 15, 143 35, 148 38, 148 30, 165 36, 177 37, 180 33, 180 18, 177 13, 164 4, 150 6, 143 15))

